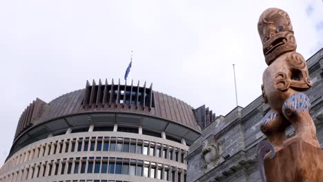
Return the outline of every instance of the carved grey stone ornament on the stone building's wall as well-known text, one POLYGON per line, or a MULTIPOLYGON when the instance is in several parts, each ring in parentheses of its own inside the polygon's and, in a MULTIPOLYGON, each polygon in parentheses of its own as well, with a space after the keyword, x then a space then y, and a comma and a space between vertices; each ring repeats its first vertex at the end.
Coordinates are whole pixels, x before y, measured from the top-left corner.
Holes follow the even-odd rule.
POLYGON ((204 172, 215 168, 228 157, 229 154, 223 150, 222 145, 215 139, 213 134, 203 141, 201 161, 204 172))

